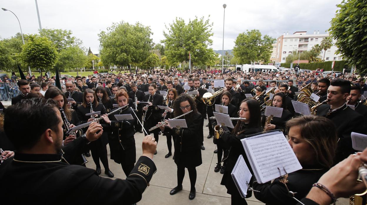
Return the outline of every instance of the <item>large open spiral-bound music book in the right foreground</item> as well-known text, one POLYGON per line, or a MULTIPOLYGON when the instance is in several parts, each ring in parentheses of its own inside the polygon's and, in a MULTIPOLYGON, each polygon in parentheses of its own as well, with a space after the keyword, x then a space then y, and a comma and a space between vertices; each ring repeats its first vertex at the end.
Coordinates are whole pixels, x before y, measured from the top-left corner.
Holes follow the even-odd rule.
POLYGON ((247 135, 241 142, 258 183, 302 169, 280 129, 247 135))

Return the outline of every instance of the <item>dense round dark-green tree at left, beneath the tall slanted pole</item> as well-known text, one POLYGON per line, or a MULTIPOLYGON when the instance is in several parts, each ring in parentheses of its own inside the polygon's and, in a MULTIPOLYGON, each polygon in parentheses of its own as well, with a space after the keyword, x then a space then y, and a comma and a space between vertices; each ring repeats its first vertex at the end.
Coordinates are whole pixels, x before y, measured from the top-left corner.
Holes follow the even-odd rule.
POLYGON ((23 46, 21 59, 28 64, 34 71, 52 70, 57 62, 57 48, 46 37, 37 35, 30 36, 29 41, 23 46))

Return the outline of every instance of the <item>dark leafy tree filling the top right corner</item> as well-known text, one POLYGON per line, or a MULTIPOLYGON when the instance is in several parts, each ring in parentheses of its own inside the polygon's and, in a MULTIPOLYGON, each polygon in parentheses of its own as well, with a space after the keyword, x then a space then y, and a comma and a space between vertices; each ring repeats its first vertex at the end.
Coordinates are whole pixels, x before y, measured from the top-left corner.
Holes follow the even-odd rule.
POLYGON ((367 73, 367 1, 343 0, 337 5, 329 29, 336 40, 337 54, 342 54, 349 65, 360 74, 367 73))

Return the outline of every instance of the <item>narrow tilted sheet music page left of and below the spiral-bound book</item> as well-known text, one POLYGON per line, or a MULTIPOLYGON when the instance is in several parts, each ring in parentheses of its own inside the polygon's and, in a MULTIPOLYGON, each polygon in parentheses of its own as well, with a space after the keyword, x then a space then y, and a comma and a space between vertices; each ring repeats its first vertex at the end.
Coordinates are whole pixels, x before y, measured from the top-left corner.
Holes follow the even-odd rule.
POLYGON ((242 155, 238 157, 236 165, 231 172, 231 175, 241 197, 245 198, 247 195, 248 184, 250 184, 252 174, 250 172, 250 169, 248 169, 242 155))

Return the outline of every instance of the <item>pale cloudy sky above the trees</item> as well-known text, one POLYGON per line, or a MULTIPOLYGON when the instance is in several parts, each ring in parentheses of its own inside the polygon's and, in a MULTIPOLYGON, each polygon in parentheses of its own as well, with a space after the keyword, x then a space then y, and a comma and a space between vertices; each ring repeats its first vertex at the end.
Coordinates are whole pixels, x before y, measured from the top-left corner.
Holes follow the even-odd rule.
MULTIPOLYGON (((98 53, 97 34, 113 22, 141 22, 150 26, 153 41, 164 39, 165 24, 175 17, 186 21, 197 17, 209 17, 214 23, 212 36, 214 50, 222 49, 223 7, 225 9, 224 49, 232 49, 241 32, 259 29, 272 37, 283 32, 307 31, 320 33, 330 27, 330 20, 341 0, 38 0, 42 28, 72 30, 73 35, 98 53)), ((21 22, 23 33, 37 33, 39 29, 34 0, 0 0, 0 7, 14 12, 21 22)), ((19 32, 17 19, 9 11, 0 10, 0 36, 9 38, 19 32)))

